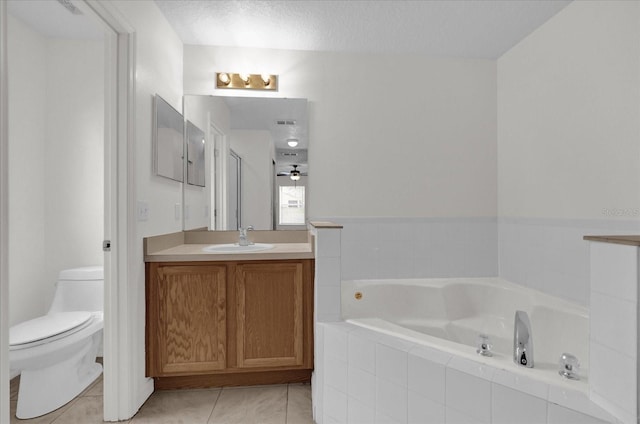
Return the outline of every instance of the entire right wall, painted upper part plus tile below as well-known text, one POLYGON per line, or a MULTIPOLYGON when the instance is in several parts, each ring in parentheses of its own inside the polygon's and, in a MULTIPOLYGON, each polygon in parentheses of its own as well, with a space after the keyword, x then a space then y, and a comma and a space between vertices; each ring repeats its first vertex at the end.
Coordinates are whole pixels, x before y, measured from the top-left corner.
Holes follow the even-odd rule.
POLYGON ((639 18, 572 2, 498 60, 502 277, 588 305, 582 236, 640 231, 639 18))

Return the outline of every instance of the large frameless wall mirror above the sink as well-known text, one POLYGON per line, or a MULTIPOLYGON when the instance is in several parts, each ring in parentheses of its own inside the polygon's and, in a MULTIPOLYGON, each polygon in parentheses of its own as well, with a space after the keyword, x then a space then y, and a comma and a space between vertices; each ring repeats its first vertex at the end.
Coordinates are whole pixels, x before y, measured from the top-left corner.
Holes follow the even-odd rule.
POLYGON ((184 96, 184 117, 205 140, 204 186, 183 185, 185 230, 306 228, 307 105, 306 99, 184 96))

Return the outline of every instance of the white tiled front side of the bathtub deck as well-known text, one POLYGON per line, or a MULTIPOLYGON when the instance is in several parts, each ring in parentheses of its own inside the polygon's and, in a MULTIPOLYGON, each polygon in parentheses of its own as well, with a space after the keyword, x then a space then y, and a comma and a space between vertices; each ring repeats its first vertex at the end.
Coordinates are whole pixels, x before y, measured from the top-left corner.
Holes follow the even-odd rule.
POLYGON ((548 385, 348 323, 319 324, 318 424, 616 423, 584 391, 548 385))

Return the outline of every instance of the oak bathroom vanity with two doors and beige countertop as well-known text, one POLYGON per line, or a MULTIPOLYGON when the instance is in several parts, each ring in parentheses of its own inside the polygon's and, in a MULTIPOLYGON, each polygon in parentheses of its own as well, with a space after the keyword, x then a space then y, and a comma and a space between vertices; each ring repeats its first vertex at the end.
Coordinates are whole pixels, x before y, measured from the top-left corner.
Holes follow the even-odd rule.
POLYGON ((313 240, 307 231, 249 237, 273 247, 206 250, 237 242, 236 231, 145 239, 146 372, 156 389, 310 380, 313 240))

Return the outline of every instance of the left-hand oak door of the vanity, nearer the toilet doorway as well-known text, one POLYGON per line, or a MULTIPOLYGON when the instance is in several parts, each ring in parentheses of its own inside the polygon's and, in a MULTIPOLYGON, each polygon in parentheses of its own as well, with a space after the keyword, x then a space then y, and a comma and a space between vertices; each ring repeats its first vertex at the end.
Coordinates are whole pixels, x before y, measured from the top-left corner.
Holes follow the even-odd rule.
POLYGON ((225 368, 225 287, 225 266, 158 267, 156 369, 161 375, 225 368))

